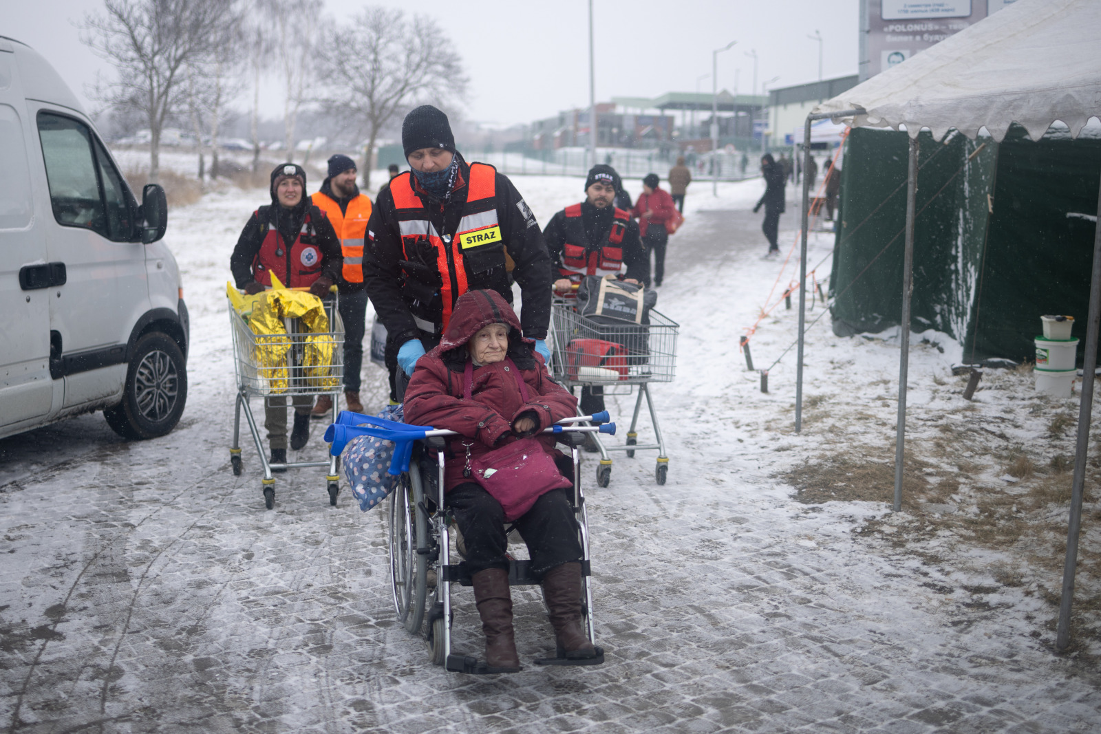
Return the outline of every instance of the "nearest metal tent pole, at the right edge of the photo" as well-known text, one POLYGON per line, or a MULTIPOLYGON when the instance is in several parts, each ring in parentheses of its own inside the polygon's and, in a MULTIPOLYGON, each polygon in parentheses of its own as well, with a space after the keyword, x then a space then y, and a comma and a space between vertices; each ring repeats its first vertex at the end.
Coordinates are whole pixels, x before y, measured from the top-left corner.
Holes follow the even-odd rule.
MULTIPOLYGON (((1101 215, 1101 189, 1098 190, 1101 215)), ((1062 599, 1059 602, 1059 627, 1055 648, 1070 644, 1070 607, 1075 603, 1075 567, 1078 565, 1078 532, 1082 525, 1082 489, 1086 483, 1086 452, 1090 443, 1090 418, 1093 413, 1093 382, 1098 357, 1098 325, 1101 322, 1101 222, 1093 231, 1093 274, 1090 277, 1090 316, 1086 322, 1086 355, 1082 358, 1082 394, 1078 408, 1078 450, 1070 490, 1070 519, 1067 523, 1067 559, 1062 566, 1062 599)))

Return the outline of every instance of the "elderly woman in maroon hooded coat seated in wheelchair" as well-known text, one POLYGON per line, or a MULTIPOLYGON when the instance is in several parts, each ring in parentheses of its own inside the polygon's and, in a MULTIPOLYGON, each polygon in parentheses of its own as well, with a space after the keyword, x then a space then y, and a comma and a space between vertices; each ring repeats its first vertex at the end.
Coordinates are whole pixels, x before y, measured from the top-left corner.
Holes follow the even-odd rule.
MULTIPOLYGON (((495 291, 470 291, 456 302, 439 346, 421 358, 405 392, 405 421, 454 430, 447 448, 445 490, 466 541, 475 601, 486 633, 491 671, 520 669, 512 628, 504 511, 489 492, 464 475, 477 460, 556 421, 577 415, 577 399, 550 379, 534 340, 524 339, 512 306, 495 291), (523 387, 520 385, 523 380, 523 387), (526 394, 526 399, 525 399, 526 394)), ((539 436, 563 474, 573 463, 539 436)), ((569 484, 568 481, 564 484, 569 484)), ((543 577, 543 594, 558 647, 567 658, 596 657, 581 626, 581 546, 566 495, 542 494, 516 521, 527 544, 532 573, 543 577)))

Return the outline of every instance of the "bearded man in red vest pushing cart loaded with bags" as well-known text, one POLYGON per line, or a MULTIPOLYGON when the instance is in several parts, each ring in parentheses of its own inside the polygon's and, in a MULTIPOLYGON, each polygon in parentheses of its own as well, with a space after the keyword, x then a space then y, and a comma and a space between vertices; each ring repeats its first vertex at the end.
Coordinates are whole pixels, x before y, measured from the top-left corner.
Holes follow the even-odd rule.
MULTIPOLYGON (((585 201, 566 207, 547 223, 543 238, 550 254, 555 291, 569 293, 586 275, 617 274, 628 283, 650 284, 650 255, 631 215, 614 206, 619 175, 609 165, 589 169, 585 201), (626 272, 622 273, 626 266, 626 272)), ((603 387, 581 388, 581 413, 604 409, 603 387)), ((598 451, 591 434, 585 448, 598 451)))

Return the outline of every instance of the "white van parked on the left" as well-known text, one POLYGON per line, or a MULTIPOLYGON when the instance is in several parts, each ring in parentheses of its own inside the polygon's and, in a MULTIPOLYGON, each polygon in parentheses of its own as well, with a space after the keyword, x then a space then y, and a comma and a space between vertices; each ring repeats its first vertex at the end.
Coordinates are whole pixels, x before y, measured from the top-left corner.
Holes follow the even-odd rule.
POLYGON ((120 436, 171 431, 187 399, 187 308, 161 241, 80 103, 0 36, 0 438, 103 410, 120 436))

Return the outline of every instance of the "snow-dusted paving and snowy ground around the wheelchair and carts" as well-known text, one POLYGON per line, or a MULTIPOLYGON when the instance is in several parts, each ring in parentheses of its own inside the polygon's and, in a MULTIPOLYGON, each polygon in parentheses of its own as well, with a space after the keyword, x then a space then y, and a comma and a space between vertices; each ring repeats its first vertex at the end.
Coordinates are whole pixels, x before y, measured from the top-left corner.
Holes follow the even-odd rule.
MULTIPOLYGON (((579 196, 578 179, 517 185, 530 201, 579 196)), ((724 201, 752 205, 755 185, 729 185, 724 201)), ((1014 588, 881 550, 852 530, 882 505, 807 506, 772 478, 819 439, 765 425, 788 419, 789 368, 777 368, 776 392, 756 392, 735 331, 775 264, 757 261, 756 217, 701 212, 702 193, 688 197, 661 295, 686 337, 677 382, 655 386, 668 484, 653 483, 648 461, 617 457, 611 486, 588 494, 608 661, 531 665, 553 639, 526 590, 515 594, 522 672, 432 667, 424 642, 394 622, 381 508, 361 513, 348 493, 330 508, 321 473, 297 471, 280 476, 265 512, 251 450, 241 476, 229 470, 225 232, 258 196, 214 195, 174 212, 195 344, 192 397, 173 434, 122 443, 85 416, 0 442, 3 731, 1097 730, 1097 672, 1028 636, 1017 607, 1003 607, 1024 603, 1014 588), (700 302, 721 286, 729 309, 700 302)), ((756 359, 786 347, 789 321, 762 329, 756 359)), ((816 328, 820 359, 841 358, 827 344, 851 340, 816 328)), ((384 380, 373 365, 364 377, 378 409, 384 380)), ((323 450, 315 436, 304 453, 323 450)), ((591 481, 591 462, 584 471, 591 481)), ((469 590, 455 600, 455 645, 478 651, 469 590)))

